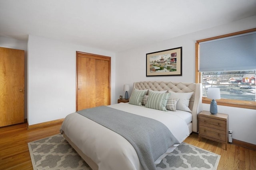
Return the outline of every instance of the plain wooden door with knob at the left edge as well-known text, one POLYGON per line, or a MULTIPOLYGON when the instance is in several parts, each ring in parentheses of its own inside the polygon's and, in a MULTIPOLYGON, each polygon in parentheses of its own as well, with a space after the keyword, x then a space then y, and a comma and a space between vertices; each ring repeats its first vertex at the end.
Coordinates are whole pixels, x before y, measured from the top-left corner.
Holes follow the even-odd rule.
POLYGON ((24 51, 0 47, 0 127, 24 122, 24 51))

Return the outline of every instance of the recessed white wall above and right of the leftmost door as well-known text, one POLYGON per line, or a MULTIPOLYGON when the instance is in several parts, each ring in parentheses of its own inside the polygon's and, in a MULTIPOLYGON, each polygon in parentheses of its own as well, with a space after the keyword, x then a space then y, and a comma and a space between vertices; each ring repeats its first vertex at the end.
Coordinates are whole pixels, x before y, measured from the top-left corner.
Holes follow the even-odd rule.
POLYGON ((9 49, 19 49, 25 51, 25 63, 24 63, 24 118, 27 118, 27 53, 28 53, 28 42, 20 41, 8 37, 0 37, 0 47, 9 49))

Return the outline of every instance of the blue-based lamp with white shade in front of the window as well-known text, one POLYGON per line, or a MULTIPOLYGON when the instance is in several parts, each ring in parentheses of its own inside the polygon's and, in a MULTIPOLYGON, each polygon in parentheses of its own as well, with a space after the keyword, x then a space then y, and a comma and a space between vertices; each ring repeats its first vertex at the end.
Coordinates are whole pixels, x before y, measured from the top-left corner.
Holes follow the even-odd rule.
POLYGON ((207 98, 212 99, 210 105, 210 113, 213 115, 218 113, 216 99, 220 99, 220 88, 208 88, 207 98))

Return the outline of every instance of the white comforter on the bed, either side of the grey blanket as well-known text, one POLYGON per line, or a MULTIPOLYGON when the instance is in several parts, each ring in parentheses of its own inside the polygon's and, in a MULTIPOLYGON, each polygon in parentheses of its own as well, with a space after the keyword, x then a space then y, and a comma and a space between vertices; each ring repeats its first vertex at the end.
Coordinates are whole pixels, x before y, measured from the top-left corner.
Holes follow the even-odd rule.
MULTIPOLYGON (((180 143, 189 135, 187 123, 170 112, 128 103, 109 107, 164 123, 180 143)), ((143 170, 136 151, 124 137, 78 113, 67 115, 60 131, 64 131, 68 138, 98 165, 99 170, 143 170)), ((170 149, 167 152, 170 152, 170 149)), ((163 153, 164 155, 166 153, 163 153)), ((160 158, 156 160, 157 163, 160 158)))

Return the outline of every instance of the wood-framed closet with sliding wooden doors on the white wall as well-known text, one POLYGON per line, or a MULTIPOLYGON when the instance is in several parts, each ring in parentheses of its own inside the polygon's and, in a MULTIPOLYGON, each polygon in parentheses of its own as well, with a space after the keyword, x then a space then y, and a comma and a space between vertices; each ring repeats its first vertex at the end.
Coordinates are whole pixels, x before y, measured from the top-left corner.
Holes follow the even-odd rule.
POLYGON ((110 105, 111 58, 76 52, 76 111, 110 105))

